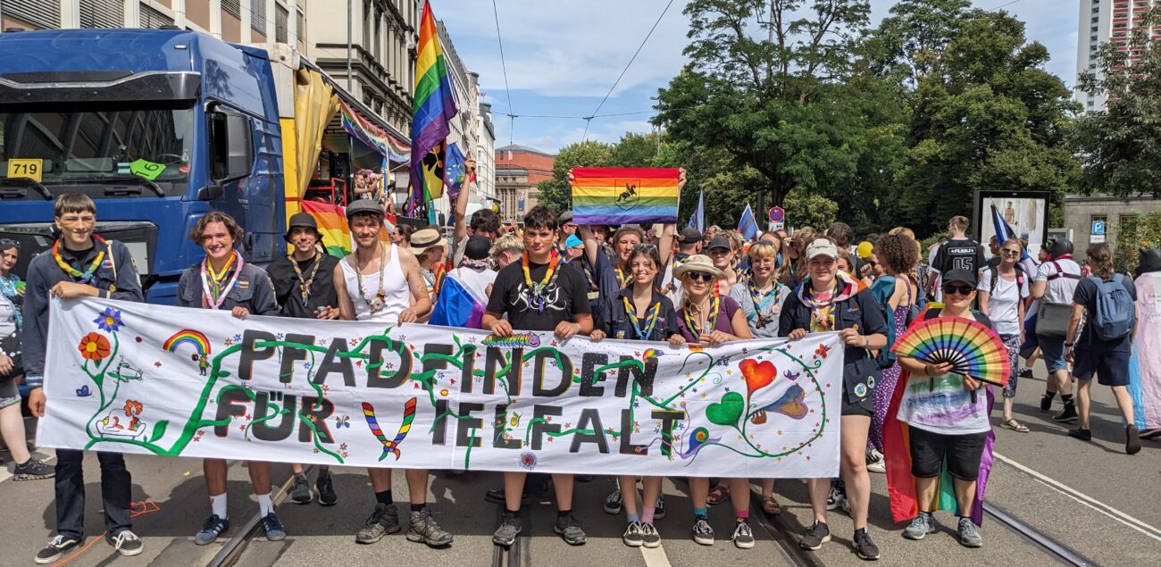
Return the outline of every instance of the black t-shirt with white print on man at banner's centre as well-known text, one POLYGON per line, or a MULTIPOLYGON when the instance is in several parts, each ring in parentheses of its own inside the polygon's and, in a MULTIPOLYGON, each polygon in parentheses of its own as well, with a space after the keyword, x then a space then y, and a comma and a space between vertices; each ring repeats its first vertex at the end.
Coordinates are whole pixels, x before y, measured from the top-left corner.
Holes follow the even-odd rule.
MULTIPOLYGON (((488 299, 488 313, 507 315, 512 329, 518 331, 551 331, 562 321, 576 322, 577 315, 590 315, 589 286, 584 274, 567 263, 557 265, 556 282, 545 290, 543 310, 538 309, 524 279, 524 266, 513 261, 496 274, 492 295, 488 299)), ((532 281, 543 281, 548 264, 529 263, 532 281)))

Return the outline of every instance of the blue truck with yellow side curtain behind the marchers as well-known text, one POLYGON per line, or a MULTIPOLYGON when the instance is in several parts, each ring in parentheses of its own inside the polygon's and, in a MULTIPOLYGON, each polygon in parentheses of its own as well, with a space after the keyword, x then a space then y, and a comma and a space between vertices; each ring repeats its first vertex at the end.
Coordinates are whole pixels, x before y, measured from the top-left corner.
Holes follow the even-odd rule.
POLYGON ((187 235, 210 210, 243 224, 248 261, 272 261, 340 98, 365 109, 288 45, 179 29, 0 34, 0 237, 22 243, 16 273, 51 245, 65 192, 93 198, 98 231, 134 252, 149 302, 174 302, 202 257, 187 235))

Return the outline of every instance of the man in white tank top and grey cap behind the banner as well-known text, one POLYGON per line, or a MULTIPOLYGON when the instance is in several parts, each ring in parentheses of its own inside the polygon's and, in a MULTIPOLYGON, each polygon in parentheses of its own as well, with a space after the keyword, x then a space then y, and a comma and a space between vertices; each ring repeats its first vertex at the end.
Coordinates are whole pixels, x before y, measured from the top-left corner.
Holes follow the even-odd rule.
MULTIPOLYGON (((383 210, 375 201, 355 201, 347 207, 347 223, 355 251, 340 263, 342 270, 334 271, 340 318, 403 324, 427 316, 432 302, 416 256, 378 239, 383 210)), ((391 496, 391 469, 368 468, 367 473, 376 502, 375 510, 355 534, 360 544, 374 544, 402 527, 391 496)), ((411 501, 408 539, 437 547, 450 545, 452 534, 435 523, 427 509, 427 471, 409 468, 405 475, 411 501)))

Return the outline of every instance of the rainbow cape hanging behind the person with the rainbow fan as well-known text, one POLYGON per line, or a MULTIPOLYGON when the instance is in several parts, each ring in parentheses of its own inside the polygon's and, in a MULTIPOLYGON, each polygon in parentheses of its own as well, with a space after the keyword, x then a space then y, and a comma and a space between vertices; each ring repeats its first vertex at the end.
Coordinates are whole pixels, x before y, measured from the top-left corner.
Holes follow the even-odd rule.
MULTIPOLYGON (((926 313, 916 317, 916 322, 923 321, 926 313)), ((920 512, 918 497, 915 493, 915 478, 911 476, 911 446, 910 426, 895 417, 899 414, 899 404, 907 390, 910 376, 903 369, 895 382, 895 390, 890 396, 890 407, 882 424, 882 453, 887 466, 887 494, 890 496, 890 517, 895 522, 907 522, 920 512)), ((988 395, 988 414, 991 412, 991 404, 995 399, 991 395, 991 387, 985 386, 988 395)), ((991 474, 993 445, 996 442, 995 431, 988 431, 988 437, 983 442, 983 454, 980 455, 980 478, 975 482, 975 501, 972 504, 971 518, 975 525, 983 523, 983 493, 988 486, 988 476, 991 474)), ((961 516, 959 505, 956 503, 956 493, 952 487, 951 474, 947 473, 947 465, 944 464, 943 473, 939 475, 939 488, 936 491, 933 510, 945 510, 957 516, 961 516)))

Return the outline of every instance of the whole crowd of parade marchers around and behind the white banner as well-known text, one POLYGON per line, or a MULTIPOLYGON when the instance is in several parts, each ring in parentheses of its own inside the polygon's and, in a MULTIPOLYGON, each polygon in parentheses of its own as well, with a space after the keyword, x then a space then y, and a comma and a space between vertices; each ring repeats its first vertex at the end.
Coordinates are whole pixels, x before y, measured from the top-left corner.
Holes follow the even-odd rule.
MULTIPOLYGON (((469 160, 469 177, 474 165, 469 160)), ((1017 379, 1031 375, 1018 361, 1023 358, 1031 367, 1031 360, 1041 357, 1050 372, 1041 409, 1050 410, 1059 394, 1063 405, 1053 418, 1080 422, 1068 435, 1091 438, 1094 378, 1116 395, 1127 423, 1127 453, 1140 451, 1141 436, 1158 433, 1138 432, 1134 426, 1126 386, 1138 326, 1132 317, 1138 289, 1132 279, 1113 272, 1106 244, 1090 246, 1082 266, 1068 241, 1053 241, 1038 251, 1039 265, 1029 272, 1022 263, 1024 242, 991 243, 993 258, 988 259, 983 246, 965 235, 967 218, 958 216, 949 222, 949 237, 926 254, 907 228, 856 243, 853 231, 842 222, 822 231, 802 227, 747 239, 719 227, 702 234, 673 224, 577 225, 571 213, 556 214, 540 206, 517 229, 502 227, 488 209, 468 217, 470 191, 469 186, 456 199, 449 237, 437 227, 412 230, 401 225, 391 243, 380 237, 383 207, 374 199, 354 200, 346 208, 354 250, 341 259, 320 246, 315 218, 296 214, 286 234, 288 254, 265 270, 246 263, 237 251, 243 228, 233 218, 207 214, 189 235, 204 258, 181 275, 178 306, 229 310, 238 318, 431 323, 497 336, 546 331, 560 340, 584 335, 598 343, 613 338, 668 342, 673 347, 763 337, 800 340, 808 333, 836 331, 845 345, 843 374, 835 376, 842 379, 841 474, 809 480, 814 517, 800 545, 819 550, 829 541, 828 511, 842 508, 852 521, 854 551, 867 560, 880 557, 866 527, 870 473, 881 473, 887 465, 885 422, 906 423, 911 432, 906 472, 920 504, 903 536, 922 539, 936 532, 931 503, 937 478, 946 468, 954 479, 959 541, 967 547, 983 545, 969 511, 978 498, 985 439, 993 431, 990 392, 978 393, 989 387, 953 373, 950 365, 892 353, 890 345, 915 321, 961 317, 989 325, 1002 337, 1012 360, 1012 374, 1002 389, 1002 428, 1027 431, 1012 415, 1017 379), (464 301, 469 308, 462 308, 464 301)), ((60 195, 55 217, 59 238, 50 253, 31 260, 27 284, 12 273, 19 244, 0 241, 0 430, 16 460, 16 480, 55 476, 56 483, 57 530, 37 554, 38 564, 55 562, 85 540, 84 452, 58 450, 55 466, 34 459, 20 416, 20 380, 31 388, 28 404, 34 415, 43 415, 52 403, 43 389, 49 300, 143 301, 129 250, 94 234, 96 207, 89 198, 60 195)), ((1147 252, 1139 270, 1161 270, 1158 256, 1147 252)), ((131 478, 124 459, 108 452, 98 452, 98 458, 108 541, 123 555, 138 554, 143 544, 132 532, 131 478)), ((271 465, 252 461, 247 469, 267 539, 286 538, 287 526, 272 500, 271 465)), ((313 483, 301 466, 294 465, 293 471, 291 502, 338 502, 327 467, 318 468, 313 483)), ((218 540, 230 529, 225 461, 204 459, 203 474, 209 514, 194 536, 199 545, 218 540)), ((404 519, 409 540, 434 547, 453 541, 427 503, 428 471, 405 472, 409 508, 403 517, 395 503, 391 471, 369 468, 368 475, 374 505, 355 534, 356 543, 373 544, 398 532, 404 519)), ((550 476, 557 507, 554 531, 568 544, 583 545, 585 532, 572 514, 574 480, 571 474, 550 476)), ((763 512, 780 514, 774 481, 753 481, 760 486, 763 512)), ((504 473, 503 487, 488 494, 504 507, 493 534, 497 545, 515 541, 524 530, 521 505, 531 495, 547 490, 548 482, 541 475, 504 473)), ((604 510, 625 512, 625 544, 661 545, 656 522, 665 516, 662 479, 625 475, 616 482, 604 510)), ((714 544, 709 508, 729 502, 735 518, 730 540, 741 548, 755 545, 749 525, 750 482, 744 478, 687 479, 694 541, 714 544)))

